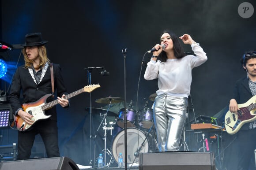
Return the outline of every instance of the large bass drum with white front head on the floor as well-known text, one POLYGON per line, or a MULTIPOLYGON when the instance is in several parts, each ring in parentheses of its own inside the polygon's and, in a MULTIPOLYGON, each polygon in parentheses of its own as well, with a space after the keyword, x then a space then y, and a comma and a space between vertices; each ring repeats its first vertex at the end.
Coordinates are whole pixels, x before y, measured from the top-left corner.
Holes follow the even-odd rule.
MULTIPOLYGON (((147 133, 147 132, 145 132, 147 133)), ((139 154, 137 156, 136 152, 138 148, 141 147, 141 144, 146 139, 147 134, 143 133, 143 131, 137 128, 128 128, 127 129, 127 163, 139 163, 139 154), (139 139, 139 141, 138 141, 139 139)), ((147 139, 145 140, 143 147, 140 149, 139 152, 148 153, 148 152, 158 152, 158 145, 156 139, 151 135, 148 135, 147 139)), ((118 163, 118 155, 122 153, 124 158, 124 129, 120 131, 113 140, 112 144, 112 154, 115 161, 118 163)), ((124 159, 123 159, 124 163, 124 159)))

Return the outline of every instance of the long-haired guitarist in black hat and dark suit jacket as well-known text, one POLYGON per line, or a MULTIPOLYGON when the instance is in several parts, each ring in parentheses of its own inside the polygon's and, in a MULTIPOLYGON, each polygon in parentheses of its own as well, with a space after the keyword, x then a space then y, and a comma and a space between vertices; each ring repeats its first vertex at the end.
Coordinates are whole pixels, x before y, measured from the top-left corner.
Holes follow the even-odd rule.
MULTIPOLYGON (((30 33, 26 35, 26 42, 22 44, 25 65, 17 68, 10 90, 10 103, 14 115, 22 118, 27 124, 33 125, 26 131, 18 131, 18 157, 17 159, 29 159, 35 136, 40 134, 45 144, 48 157, 59 157, 58 128, 56 107, 45 111, 45 115, 51 115, 48 119, 34 122, 33 115, 23 111, 19 101, 20 94, 23 96, 23 103, 36 102, 42 96, 53 93, 51 84, 50 60, 46 54, 45 44, 41 33, 30 33)), ((53 64, 54 88, 57 90, 59 104, 69 107, 69 101, 63 99, 67 95, 64 81, 61 75, 60 65, 53 64)), ((49 97, 48 100, 53 100, 49 97)), ((48 103, 49 101, 47 101, 48 103)))

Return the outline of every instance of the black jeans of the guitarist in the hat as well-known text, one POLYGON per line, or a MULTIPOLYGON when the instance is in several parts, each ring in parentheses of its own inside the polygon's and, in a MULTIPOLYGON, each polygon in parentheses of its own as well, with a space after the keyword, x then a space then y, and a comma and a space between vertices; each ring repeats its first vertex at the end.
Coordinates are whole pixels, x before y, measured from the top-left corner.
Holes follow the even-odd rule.
POLYGON ((35 122, 35 124, 26 131, 19 131, 17 156, 18 160, 30 158, 31 149, 37 134, 40 134, 42 137, 48 157, 60 156, 57 122, 46 119, 35 122))

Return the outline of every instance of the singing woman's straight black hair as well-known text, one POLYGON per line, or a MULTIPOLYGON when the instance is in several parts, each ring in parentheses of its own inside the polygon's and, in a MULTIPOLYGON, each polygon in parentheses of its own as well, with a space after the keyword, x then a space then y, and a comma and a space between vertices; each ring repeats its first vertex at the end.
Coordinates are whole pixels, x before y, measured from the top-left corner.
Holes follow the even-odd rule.
MULTIPOLYGON (((174 56, 177 57, 177 59, 181 59, 182 57, 184 57, 186 54, 183 51, 183 48, 179 42, 179 38, 177 37, 177 35, 175 33, 173 33, 172 31, 169 30, 164 30, 160 36, 160 38, 162 37, 162 35, 164 33, 169 33, 172 41, 173 41, 173 51, 174 51, 174 56)), ((162 62, 166 62, 167 60, 167 55, 166 52, 162 51, 159 55, 159 58, 162 62)))

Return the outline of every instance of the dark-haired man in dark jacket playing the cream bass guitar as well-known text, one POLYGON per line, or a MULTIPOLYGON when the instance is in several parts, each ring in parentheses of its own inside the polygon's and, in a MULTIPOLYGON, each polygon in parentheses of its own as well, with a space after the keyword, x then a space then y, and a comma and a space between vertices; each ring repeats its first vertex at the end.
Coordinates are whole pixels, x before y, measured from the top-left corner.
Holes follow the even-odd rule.
MULTIPOLYGON (((256 52, 245 53, 241 58, 242 67, 247 76, 238 80, 235 84, 233 99, 230 100, 229 109, 232 113, 239 110, 237 103, 246 103, 252 96, 256 95, 256 52)), ((237 132, 232 151, 235 159, 230 160, 228 170, 256 170, 254 150, 256 149, 256 121, 246 123, 237 132), (251 166, 250 162, 252 163, 251 166)), ((227 157, 227 154, 226 154, 227 157)))

